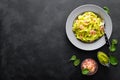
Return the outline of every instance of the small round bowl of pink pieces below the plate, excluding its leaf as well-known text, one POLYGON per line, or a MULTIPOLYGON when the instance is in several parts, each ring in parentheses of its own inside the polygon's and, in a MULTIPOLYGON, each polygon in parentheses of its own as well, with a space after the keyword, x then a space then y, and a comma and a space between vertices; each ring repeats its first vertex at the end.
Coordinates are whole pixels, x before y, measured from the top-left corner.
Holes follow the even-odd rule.
POLYGON ((88 69, 89 73, 87 75, 94 75, 98 70, 98 64, 92 58, 85 59, 81 64, 81 70, 88 69))

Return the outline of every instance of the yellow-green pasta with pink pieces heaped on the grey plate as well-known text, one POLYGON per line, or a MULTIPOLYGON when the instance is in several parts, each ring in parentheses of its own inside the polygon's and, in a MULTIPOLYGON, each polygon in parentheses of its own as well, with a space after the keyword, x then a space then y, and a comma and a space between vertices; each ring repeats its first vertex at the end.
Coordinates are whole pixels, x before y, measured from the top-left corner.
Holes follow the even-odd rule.
POLYGON ((84 12, 73 22, 72 31, 83 42, 94 42, 104 35, 103 19, 94 12, 84 12))

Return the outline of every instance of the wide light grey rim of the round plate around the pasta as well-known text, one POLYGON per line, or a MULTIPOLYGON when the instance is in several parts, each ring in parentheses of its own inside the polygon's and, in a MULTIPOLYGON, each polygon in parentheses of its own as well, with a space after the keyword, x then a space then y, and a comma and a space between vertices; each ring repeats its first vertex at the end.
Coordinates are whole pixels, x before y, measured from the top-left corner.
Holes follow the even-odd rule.
POLYGON ((96 14, 98 14, 103 18, 105 22, 105 30, 108 38, 110 38, 112 34, 112 21, 110 16, 104 11, 103 8, 93 4, 86 4, 86 5, 79 6, 70 13, 66 22, 66 34, 68 39, 77 48, 90 51, 90 50, 95 50, 102 47, 103 45, 105 45, 106 41, 104 36, 93 43, 84 43, 76 39, 72 31, 73 21, 79 14, 82 14, 83 12, 86 12, 86 11, 95 12, 96 14))

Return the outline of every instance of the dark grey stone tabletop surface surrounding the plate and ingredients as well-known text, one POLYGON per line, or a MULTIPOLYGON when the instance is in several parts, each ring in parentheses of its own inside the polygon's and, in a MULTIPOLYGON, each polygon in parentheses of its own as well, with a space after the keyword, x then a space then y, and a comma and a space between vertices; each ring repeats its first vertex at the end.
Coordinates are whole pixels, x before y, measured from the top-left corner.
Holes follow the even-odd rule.
MULTIPOLYGON (((120 40, 120 0, 0 0, 0 80, 120 80, 120 65, 106 68, 95 51, 74 47, 65 32, 70 12, 83 4, 108 6, 112 38, 120 40), (94 58, 98 72, 83 76, 80 66, 68 62, 73 55, 94 58)), ((119 43, 120 44, 120 43, 119 43)), ((120 62, 120 46, 114 53, 120 62)))

